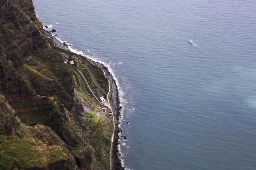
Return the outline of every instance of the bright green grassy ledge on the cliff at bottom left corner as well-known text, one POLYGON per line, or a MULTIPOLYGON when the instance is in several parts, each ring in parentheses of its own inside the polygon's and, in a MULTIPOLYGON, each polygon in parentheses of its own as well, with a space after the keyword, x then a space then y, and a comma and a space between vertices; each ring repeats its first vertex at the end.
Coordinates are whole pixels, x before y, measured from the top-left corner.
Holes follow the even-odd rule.
POLYGON ((60 146, 46 146, 38 139, 0 136, 0 168, 18 161, 21 167, 44 167, 52 161, 67 159, 60 146))

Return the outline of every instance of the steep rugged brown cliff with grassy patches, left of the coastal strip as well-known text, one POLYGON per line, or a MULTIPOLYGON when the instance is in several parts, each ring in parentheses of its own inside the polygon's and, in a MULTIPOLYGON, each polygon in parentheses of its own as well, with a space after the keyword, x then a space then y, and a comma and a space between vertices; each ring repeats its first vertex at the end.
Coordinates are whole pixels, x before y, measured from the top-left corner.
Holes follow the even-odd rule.
POLYGON ((93 149, 70 54, 41 30, 32 0, 0 0, 0 169, 88 170, 93 149))

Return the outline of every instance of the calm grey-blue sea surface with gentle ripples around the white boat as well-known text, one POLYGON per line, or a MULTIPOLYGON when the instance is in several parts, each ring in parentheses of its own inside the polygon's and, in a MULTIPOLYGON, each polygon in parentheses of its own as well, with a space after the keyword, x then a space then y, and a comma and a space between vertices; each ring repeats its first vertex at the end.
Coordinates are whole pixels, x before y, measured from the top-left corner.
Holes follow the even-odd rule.
POLYGON ((255 0, 34 5, 57 37, 118 77, 125 167, 256 170, 255 0))

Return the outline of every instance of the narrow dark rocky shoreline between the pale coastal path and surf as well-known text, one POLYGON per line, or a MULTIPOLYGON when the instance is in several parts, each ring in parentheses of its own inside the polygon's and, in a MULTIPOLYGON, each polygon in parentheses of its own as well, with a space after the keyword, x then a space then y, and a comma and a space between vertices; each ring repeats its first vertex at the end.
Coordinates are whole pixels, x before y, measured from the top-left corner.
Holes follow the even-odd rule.
MULTIPOLYGON (((47 33, 47 32, 46 32, 47 33)), ((67 45, 64 45, 61 41, 59 41, 56 37, 51 37, 51 40, 55 43, 55 46, 58 48, 62 48, 64 50, 70 51, 67 45)), ((72 52, 72 51, 71 51, 72 52)), ((115 131, 114 131, 114 139, 113 139, 113 150, 112 150, 112 169, 113 170, 125 170, 124 167, 122 167, 122 161, 119 159, 120 153, 118 150, 118 145, 119 145, 119 133, 122 132, 122 130, 119 128, 120 125, 120 109, 122 109, 122 106, 120 106, 120 98, 119 98, 119 90, 118 86, 116 85, 116 80, 113 78, 113 75, 110 73, 108 70, 108 67, 106 67, 104 64, 95 62, 92 59, 86 57, 85 55, 79 55, 80 57, 84 57, 93 64, 99 66, 102 68, 105 73, 106 77, 111 81, 111 93, 109 94, 109 99, 110 99, 110 104, 113 108, 113 111, 115 113, 115 131)))

